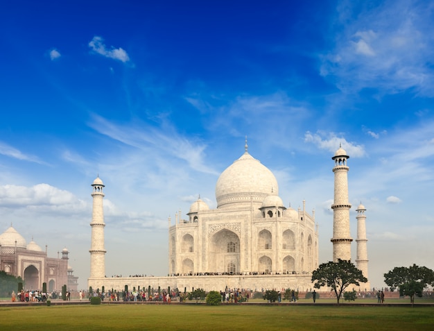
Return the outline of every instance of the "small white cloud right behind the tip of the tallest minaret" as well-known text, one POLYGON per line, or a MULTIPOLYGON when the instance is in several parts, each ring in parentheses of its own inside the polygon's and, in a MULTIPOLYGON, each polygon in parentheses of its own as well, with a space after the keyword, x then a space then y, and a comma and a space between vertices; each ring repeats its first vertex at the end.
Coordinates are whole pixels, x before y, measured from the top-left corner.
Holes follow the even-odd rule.
POLYGON ((310 142, 315 144, 320 149, 325 149, 331 153, 335 153, 339 146, 347 151, 348 155, 353 158, 363 158, 366 155, 365 147, 363 145, 357 145, 352 142, 347 142, 344 137, 337 137, 334 133, 329 133, 328 139, 323 139, 320 133, 310 133, 307 131, 304 134, 304 142, 310 142))

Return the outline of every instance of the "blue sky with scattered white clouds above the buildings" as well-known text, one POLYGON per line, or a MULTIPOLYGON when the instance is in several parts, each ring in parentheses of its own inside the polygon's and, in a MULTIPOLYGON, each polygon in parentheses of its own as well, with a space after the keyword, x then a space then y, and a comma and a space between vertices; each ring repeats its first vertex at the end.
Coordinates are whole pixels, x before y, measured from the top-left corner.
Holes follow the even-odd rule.
POLYGON ((434 269, 434 3, 356 2, 3 3, 0 231, 67 246, 87 287, 99 174, 107 276, 166 275, 168 217, 216 207, 247 135, 286 205, 315 209, 327 262, 341 143, 372 286, 434 269))

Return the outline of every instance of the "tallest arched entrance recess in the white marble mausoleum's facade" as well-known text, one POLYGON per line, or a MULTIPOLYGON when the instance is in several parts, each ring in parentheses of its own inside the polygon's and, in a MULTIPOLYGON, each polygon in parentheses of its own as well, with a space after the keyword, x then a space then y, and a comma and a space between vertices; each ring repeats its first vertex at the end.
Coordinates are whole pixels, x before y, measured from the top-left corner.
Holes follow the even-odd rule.
POLYGON ((209 272, 240 272, 240 239, 227 229, 218 231, 210 241, 209 272))

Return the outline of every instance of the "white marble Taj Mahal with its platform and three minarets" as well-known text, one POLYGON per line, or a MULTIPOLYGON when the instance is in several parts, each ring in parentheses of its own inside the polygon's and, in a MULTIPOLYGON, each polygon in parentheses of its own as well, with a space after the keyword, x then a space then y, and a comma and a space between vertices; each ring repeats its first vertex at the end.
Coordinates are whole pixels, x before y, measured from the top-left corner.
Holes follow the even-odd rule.
MULTIPOLYGON (((347 152, 340 146, 333 155, 334 199, 333 261, 351 260, 347 152)), ((132 287, 162 289, 312 288, 312 271, 319 266, 318 225, 306 201, 297 210, 285 207, 277 180, 266 166, 245 151, 216 183, 216 209, 199 197, 186 219, 168 219, 168 275, 164 277, 105 277, 103 193, 101 178, 92 183, 93 211, 91 269, 93 289, 132 287)), ((367 273, 365 207, 357 210, 356 266, 367 273)), ((331 260, 331 259, 330 259, 331 260)), ((368 278, 369 279, 369 278, 368 278)), ((369 282, 363 287, 370 288, 369 282)))

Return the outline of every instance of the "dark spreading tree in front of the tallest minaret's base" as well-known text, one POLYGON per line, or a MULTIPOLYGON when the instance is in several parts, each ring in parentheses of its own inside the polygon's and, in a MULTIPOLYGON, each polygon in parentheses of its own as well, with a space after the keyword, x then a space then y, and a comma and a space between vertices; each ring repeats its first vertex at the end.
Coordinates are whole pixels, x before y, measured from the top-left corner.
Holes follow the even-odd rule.
POLYGON ((351 261, 338 259, 338 262, 320 264, 312 273, 312 282, 315 282, 313 287, 317 289, 323 286, 331 287, 335 291, 339 305, 340 296, 349 285, 359 286, 360 282, 367 282, 367 278, 351 261))

